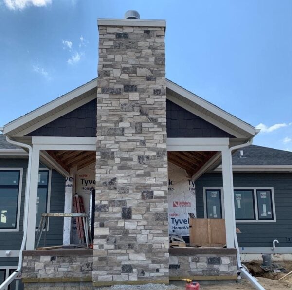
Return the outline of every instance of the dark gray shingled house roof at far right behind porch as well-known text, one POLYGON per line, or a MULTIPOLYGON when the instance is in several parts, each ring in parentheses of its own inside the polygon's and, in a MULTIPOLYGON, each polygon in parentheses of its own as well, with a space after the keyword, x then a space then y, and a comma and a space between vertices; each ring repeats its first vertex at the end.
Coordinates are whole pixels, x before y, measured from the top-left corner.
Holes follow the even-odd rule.
POLYGON ((240 150, 232 155, 234 165, 292 165, 292 152, 263 146, 250 145, 243 150, 244 158, 240 158, 240 150))

